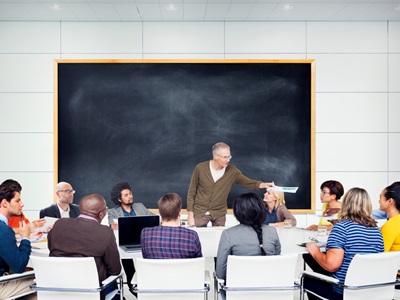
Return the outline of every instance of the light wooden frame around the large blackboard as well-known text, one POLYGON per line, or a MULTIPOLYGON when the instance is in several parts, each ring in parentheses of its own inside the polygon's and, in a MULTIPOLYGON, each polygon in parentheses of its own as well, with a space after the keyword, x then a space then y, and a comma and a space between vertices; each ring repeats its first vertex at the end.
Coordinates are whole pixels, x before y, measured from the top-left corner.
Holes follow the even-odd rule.
MULTIPOLYGON (((307 105, 309 108, 309 131, 310 131, 310 174, 309 174, 309 195, 310 199, 307 202, 307 207, 301 209, 291 209, 293 213, 313 213, 315 212, 315 60, 55 60, 54 61, 54 182, 55 184, 61 179, 59 176, 59 68, 66 64, 300 64, 307 65, 310 68, 309 82, 309 99, 307 105)), ((217 141, 216 141, 217 142, 217 141)), ((211 147, 211 145, 210 145, 211 147)), ((234 146, 233 146, 234 147, 234 146)), ((240 168, 240 166, 238 166, 240 168)), ((193 166, 194 168, 194 166, 193 166)), ((251 174, 246 174, 254 178, 251 174)), ((258 178, 257 178, 258 179, 258 178)), ((190 180, 190 179, 189 179, 190 180)), ((68 180, 67 180, 68 181, 68 180)), ((123 181, 123 180, 121 180, 123 181)), ((108 194, 103 195, 106 199, 108 194)), ((186 199, 182 197, 183 202, 186 199)), ((75 199, 79 201, 79 199, 75 199)), ((139 200, 139 202, 142 202, 139 200)), ((288 205, 290 208, 290 205, 288 205)), ((155 209, 155 207, 151 207, 155 209)), ((231 212, 231 210, 229 210, 231 212)))

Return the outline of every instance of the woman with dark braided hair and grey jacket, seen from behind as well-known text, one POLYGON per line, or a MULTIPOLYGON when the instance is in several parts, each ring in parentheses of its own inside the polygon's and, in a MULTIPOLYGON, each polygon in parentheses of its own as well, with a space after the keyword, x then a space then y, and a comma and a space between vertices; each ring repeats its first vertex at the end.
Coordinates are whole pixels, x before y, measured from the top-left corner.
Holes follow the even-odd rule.
POLYGON ((276 228, 263 224, 265 207, 255 193, 238 196, 233 202, 233 214, 240 224, 225 229, 219 241, 216 274, 226 279, 228 255, 279 255, 281 243, 276 228))

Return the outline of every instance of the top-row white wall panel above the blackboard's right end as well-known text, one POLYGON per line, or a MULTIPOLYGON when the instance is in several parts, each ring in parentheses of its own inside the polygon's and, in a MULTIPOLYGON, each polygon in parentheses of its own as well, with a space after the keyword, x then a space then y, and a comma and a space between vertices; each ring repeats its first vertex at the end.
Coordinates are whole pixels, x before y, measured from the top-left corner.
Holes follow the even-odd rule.
POLYGON ((305 53, 305 22, 227 22, 226 53, 305 53))

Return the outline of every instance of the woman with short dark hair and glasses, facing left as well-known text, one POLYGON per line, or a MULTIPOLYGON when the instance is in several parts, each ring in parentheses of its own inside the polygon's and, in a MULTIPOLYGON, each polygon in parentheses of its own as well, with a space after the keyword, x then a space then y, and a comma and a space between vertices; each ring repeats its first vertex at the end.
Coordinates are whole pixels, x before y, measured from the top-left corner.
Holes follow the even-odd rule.
MULTIPOLYGON (((327 180, 321 184, 320 200, 322 205, 323 216, 337 216, 342 203, 339 201, 344 194, 343 185, 336 180, 327 180)), ((332 220, 333 221, 333 220, 332 220)), ((326 226, 327 230, 332 229, 332 222, 325 218, 319 220, 318 225, 312 224, 307 227, 307 230, 318 230, 318 226, 326 226)))

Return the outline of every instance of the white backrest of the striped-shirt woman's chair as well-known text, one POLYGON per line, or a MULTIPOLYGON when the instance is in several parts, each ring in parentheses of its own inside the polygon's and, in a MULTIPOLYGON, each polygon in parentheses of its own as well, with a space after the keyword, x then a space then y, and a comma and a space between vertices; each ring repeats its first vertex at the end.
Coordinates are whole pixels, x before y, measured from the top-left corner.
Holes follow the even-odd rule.
MULTIPOLYGON (((347 270, 344 284, 362 286, 394 282, 400 267, 400 252, 356 254, 347 270)), ((350 290, 345 289, 345 300, 393 299, 394 286, 350 290)))

